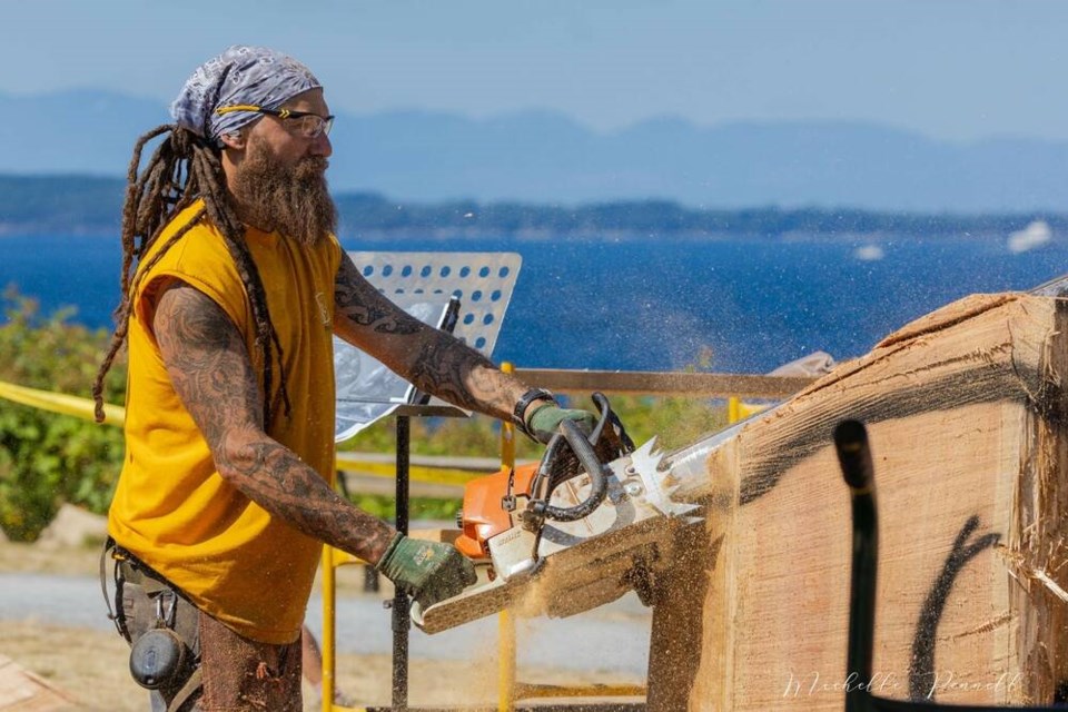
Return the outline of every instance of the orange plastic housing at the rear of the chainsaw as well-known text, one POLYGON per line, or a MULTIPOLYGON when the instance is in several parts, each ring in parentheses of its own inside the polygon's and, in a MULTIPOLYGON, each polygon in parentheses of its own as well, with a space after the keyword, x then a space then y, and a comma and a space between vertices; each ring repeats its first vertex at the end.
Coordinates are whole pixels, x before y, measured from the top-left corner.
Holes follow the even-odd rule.
POLYGON ((505 467, 492 475, 468 482, 464 486, 464 507, 459 521, 462 533, 456 538, 456 548, 469 558, 490 558, 490 540, 507 532, 515 524, 515 512, 504 508, 504 497, 511 494, 514 497, 528 498, 531 482, 536 473, 537 463, 530 463, 516 467, 514 478, 512 469, 505 467))

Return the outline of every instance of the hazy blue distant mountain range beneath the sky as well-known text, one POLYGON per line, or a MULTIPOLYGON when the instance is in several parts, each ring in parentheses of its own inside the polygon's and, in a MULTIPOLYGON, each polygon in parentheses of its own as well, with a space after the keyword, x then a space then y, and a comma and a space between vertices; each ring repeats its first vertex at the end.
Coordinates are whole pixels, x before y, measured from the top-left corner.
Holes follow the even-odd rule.
MULTIPOLYGON (((92 90, 0 101, 19 117, 0 122, 0 174, 119 177, 137 136, 169 121, 164 105, 92 90)), ((951 144, 871 123, 671 118, 601 134, 538 111, 342 115, 332 138, 336 191, 397 201, 1068 211, 1068 144, 1035 139, 951 144)))

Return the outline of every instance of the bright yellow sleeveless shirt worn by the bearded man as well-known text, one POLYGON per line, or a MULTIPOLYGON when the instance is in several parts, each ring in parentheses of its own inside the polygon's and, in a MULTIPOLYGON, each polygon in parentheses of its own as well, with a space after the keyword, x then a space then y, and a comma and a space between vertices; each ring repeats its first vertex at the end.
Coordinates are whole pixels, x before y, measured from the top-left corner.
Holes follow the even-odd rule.
MULTIPOLYGON (((154 248, 202 206, 176 216, 154 248)), ((340 246, 315 247, 248 228, 245 235, 267 293, 281 343, 275 358, 274 404, 267 433, 333 484, 334 280, 340 246), (293 411, 278 400, 285 369, 293 411)), ((147 265, 151 254, 141 259, 147 265)), ((300 634, 322 544, 273 518, 229 485, 171 386, 151 328, 146 298, 177 278, 214 299, 237 326, 259 383, 248 295, 219 231, 207 218, 194 226, 135 283, 129 327, 126 459, 108 517, 111 536, 181 589, 196 605, 239 634, 290 643, 300 634)))

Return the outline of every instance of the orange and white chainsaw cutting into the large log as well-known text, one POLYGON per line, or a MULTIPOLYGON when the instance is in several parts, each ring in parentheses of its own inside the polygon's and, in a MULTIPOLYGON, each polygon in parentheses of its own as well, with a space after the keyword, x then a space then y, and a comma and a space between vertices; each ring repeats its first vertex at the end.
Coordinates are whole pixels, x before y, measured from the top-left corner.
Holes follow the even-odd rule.
POLYGON ((589 435, 564 421, 538 463, 467 483, 454 543, 481 583, 413 609, 421 630, 436 633, 504 609, 565 617, 632 590, 655 603, 679 530, 701 521, 700 505, 675 494, 681 477, 703 475, 706 442, 668 459, 655 441, 634 447, 603 394, 593 403, 599 418, 589 435))

